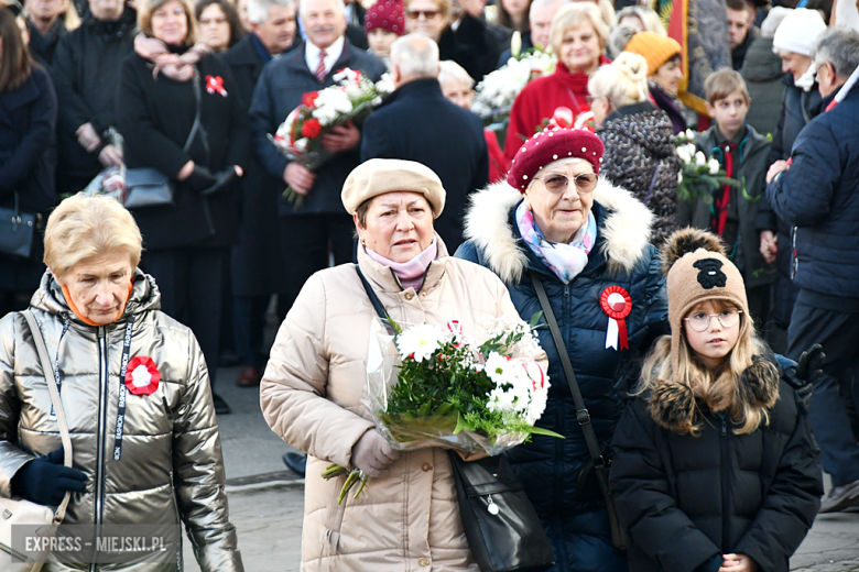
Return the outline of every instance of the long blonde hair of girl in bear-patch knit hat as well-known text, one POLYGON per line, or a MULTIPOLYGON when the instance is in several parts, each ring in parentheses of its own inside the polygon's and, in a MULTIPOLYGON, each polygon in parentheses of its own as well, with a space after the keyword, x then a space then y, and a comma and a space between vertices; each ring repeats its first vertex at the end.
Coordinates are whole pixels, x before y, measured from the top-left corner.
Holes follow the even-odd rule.
MULTIPOLYGON (((720 309, 733 307, 720 300, 714 302, 720 309)), ((755 336, 754 323, 748 314, 740 315, 739 328, 737 344, 717 370, 709 370, 698 360, 697 354, 689 346, 685 329, 681 330, 677 372, 672 371, 671 336, 663 336, 656 340, 641 367, 641 380, 635 393, 651 391, 655 396, 654 389, 674 383, 692 389, 695 399, 692 402, 693 410, 685 411, 688 415, 672 416, 671 422, 666 422, 662 416, 655 415, 656 399, 651 397, 651 416, 654 421, 676 433, 697 437, 703 425, 700 413, 697 411, 697 403, 700 402, 714 413, 727 411, 731 419, 741 426, 735 430, 737 435, 751 433, 761 425, 770 422, 765 407, 749 404, 740 396, 742 373, 752 365, 755 355, 763 355, 766 352, 766 346, 755 336)))

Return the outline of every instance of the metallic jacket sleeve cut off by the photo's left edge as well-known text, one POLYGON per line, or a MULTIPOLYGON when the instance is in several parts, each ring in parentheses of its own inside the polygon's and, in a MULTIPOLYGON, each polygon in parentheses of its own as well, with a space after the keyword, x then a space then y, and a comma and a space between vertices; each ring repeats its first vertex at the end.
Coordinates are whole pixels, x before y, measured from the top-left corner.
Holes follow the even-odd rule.
POLYGON ((15 391, 15 315, 0 320, 0 497, 12 496, 12 476, 35 459, 15 446, 21 402, 15 391))

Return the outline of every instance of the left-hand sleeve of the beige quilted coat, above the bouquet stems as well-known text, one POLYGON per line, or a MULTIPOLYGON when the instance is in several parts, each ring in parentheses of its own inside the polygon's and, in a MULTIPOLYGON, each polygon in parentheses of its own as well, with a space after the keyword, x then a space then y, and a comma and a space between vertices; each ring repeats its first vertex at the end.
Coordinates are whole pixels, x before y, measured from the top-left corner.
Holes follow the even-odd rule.
POLYGON ((352 446, 373 424, 327 398, 325 283, 312 276, 283 320, 260 385, 269 427, 308 454, 350 466, 352 446))

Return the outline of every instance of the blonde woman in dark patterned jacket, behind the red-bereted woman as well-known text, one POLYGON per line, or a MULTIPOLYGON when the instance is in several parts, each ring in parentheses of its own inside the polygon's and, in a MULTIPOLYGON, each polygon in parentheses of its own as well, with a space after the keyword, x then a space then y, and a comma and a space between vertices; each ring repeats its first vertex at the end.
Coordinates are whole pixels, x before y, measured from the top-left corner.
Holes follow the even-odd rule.
POLYGON ((588 89, 597 135, 606 145, 602 174, 656 216, 651 242, 659 248, 677 228, 681 160, 668 114, 651 102, 648 62, 621 52, 590 76, 588 89))

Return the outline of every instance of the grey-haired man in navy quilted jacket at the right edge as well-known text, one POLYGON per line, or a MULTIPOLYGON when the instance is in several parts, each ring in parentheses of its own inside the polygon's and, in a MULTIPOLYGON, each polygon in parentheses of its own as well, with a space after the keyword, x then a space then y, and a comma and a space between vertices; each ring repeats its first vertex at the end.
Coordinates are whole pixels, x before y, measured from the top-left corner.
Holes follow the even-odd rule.
MULTIPOLYGON (((859 33, 829 29, 812 57, 820 95, 831 98, 859 67, 859 33)), ((791 164, 776 161, 766 195, 795 227, 794 284, 800 288, 787 355, 812 344, 826 352, 824 375, 814 382, 809 414, 833 490, 820 513, 859 506, 859 444, 838 392, 841 373, 859 366, 859 89, 813 119, 793 145, 791 164)))

